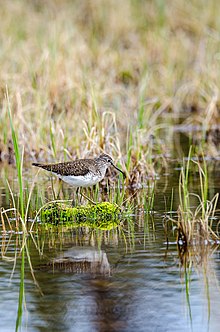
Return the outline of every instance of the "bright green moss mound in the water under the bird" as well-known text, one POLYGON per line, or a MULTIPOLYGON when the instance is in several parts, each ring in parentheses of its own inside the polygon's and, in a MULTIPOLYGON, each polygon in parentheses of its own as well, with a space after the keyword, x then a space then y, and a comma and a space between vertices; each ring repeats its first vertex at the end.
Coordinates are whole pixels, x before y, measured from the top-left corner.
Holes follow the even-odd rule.
POLYGON ((42 211, 41 220, 53 225, 65 224, 76 227, 112 229, 120 223, 119 212, 118 205, 109 202, 77 207, 53 203, 42 211))

